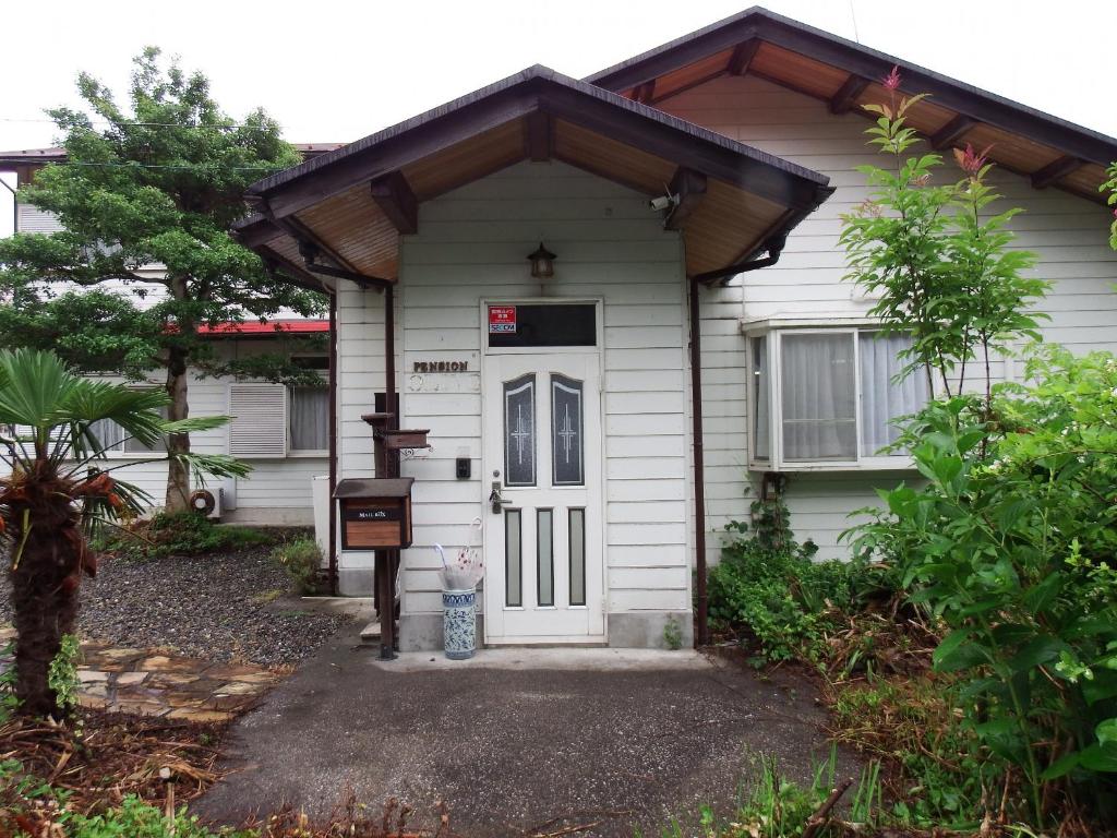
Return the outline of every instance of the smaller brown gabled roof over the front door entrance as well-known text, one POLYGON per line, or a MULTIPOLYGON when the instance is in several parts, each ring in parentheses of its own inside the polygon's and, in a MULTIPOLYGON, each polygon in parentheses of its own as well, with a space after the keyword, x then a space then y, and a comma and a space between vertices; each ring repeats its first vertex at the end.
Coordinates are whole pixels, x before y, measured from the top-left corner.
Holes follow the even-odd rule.
POLYGON ((255 183, 261 211, 237 227, 288 272, 305 274, 311 248, 335 270, 394 282, 419 203, 550 159, 648 196, 671 183, 685 200, 667 223, 691 275, 765 249, 832 192, 818 172, 535 66, 255 183))

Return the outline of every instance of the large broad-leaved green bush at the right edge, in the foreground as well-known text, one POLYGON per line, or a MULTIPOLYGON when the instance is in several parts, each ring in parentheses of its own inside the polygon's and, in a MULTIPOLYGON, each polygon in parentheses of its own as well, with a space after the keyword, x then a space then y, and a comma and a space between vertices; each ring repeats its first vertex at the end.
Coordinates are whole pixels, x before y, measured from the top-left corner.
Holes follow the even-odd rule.
POLYGON ((928 406, 903 440, 926 484, 881 492, 857 544, 951 629, 936 668, 1042 827, 1117 801, 1117 359, 1048 350, 1029 378, 928 406))

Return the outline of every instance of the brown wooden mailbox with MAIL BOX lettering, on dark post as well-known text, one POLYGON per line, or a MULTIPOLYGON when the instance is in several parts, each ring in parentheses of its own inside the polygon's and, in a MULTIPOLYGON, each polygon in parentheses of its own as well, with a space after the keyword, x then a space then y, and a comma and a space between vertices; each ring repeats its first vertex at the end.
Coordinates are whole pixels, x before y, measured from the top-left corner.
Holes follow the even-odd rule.
POLYGON ((342 550, 411 546, 411 477, 341 480, 342 550))

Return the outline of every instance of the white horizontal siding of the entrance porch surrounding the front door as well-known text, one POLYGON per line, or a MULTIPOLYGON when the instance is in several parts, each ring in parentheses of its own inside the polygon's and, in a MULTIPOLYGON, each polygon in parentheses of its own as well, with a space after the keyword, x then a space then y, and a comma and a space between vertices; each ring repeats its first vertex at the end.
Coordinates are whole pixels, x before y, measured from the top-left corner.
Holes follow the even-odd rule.
MULTIPOLYGON (((419 234, 402 239, 401 422, 430 428, 432 445, 423 458, 402 465, 417 478, 403 610, 441 607, 432 544, 478 544, 472 521, 487 514, 479 460, 480 302, 540 296, 524 258, 540 240, 558 254, 546 295, 603 299, 609 608, 685 609, 689 450, 679 239, 662 230, 642 196, 562 163, 523 163, 422 204, 419 234), (412 372, 417 361, 459 360, 468 361, 469 372, 412 372), (430 391, 432 381, 438 392, 430 391), (461 451, 474 461, 470 480, 452 477, 461 451)), ((383 298, 345 291, 341 303, 341 468, 367 476, 372 437, 359 416, 382 389, 383 344, 379 332, 362 336, 382 324, 383 298)), ((346 553, 342 563, 369 566, 371 556, 346 553)))

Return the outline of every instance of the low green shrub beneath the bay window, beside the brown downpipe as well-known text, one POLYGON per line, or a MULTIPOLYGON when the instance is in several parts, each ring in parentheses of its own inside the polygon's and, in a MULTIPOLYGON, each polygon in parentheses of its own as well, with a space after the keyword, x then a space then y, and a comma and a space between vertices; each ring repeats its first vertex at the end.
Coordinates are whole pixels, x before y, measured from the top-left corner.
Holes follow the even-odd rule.
POLYGON ((755 532, 734 522, 735 533, 709 572, 709 615, 724 628, 744 629, 762 659, 821 660, 836 618, 858 607, 873 589, 863 564, 814 562, 817 547, 795 542, 782 501, 753 504, 755 532))

